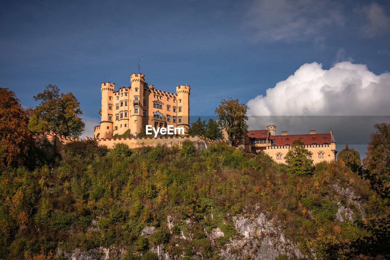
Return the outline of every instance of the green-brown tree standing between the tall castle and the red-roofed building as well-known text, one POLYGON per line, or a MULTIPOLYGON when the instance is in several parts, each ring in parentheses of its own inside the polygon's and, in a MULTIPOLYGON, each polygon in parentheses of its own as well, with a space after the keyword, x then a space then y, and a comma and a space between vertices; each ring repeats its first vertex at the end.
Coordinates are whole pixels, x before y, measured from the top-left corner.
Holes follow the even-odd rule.
POLYGON ((229 136, 229 141, 233 143, 235 136, 244 135, 248 131, 248 125, 245 120, 248 120, 246 113, 246 105, 239 103, 238 99, 222 99, 221 104, 215 109, 218 115, 218 124, 222 129, 225 129, 229 136))

